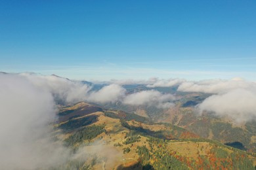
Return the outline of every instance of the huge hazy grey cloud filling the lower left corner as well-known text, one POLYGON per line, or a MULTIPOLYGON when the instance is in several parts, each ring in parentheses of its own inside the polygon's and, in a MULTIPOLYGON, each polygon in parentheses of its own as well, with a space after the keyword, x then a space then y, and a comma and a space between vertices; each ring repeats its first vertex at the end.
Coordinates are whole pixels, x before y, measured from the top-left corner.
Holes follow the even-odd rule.
POLYGON ((1 169, 37 169, 65 160, 66 150, 51 140, 53 96, 20 75, 0 73, 1 169))

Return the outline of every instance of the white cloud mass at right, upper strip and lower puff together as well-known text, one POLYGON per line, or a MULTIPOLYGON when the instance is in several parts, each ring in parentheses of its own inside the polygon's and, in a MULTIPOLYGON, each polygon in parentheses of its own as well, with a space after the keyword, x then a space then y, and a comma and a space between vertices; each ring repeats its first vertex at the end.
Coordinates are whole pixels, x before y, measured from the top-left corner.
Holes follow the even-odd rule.
POLYGON ((219 116, 229 116, 236 122, 255 120, 256 118, 256 83, 242 78, 232 80, 203 80, 183 82, 182 92, 213 93, 197 107, 213 111, 219 116))

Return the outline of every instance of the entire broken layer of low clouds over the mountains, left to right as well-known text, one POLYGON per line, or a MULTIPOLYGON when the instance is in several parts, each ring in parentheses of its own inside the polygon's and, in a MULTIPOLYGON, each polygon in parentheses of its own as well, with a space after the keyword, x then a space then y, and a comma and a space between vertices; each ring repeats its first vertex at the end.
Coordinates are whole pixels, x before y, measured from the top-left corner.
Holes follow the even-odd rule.
MULTIPOLYGON (((219 116, 230 116, 237 122, 256 119, 256 83, 240 78, 232 80, 181 79, 147 80, 145 86, 179 86, 182 92, 213 93, 197 105, 219 116)), ((146 82, 146 81, 145 81, 146 82)), ((0 165, 3 169, 37 169, 66 161, 69 153, 51 139, 51 126, 56 120, 56 103, 115 103, 150 105, 168 109, 175 96, 156 90, 128 93, 118 84, 93 91, 91 85, 73 82, 59 76, 28 73, 0 73, 0 165)))

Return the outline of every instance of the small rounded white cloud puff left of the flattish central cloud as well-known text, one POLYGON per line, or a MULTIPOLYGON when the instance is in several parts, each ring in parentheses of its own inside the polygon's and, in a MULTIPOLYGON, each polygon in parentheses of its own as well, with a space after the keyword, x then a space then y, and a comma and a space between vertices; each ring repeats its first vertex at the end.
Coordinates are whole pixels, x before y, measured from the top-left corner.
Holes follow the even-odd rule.
POLYGON ((114 103, 120 100, 124 95, 124 88, 117 84, 110 84, 108 86, 104 86, 97 92, 91 92, 87 100, 96 103, 114 103))

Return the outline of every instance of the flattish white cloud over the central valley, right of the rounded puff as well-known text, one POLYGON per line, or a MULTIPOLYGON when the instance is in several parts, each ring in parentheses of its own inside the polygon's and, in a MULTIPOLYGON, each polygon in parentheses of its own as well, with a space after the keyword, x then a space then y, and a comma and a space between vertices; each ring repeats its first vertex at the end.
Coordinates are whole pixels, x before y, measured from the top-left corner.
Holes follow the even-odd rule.
POLYGON ((156 107, 171 107, 175 97, 171 94, 162 94, 156 90, 148 90, 127 95, 123 99, 126 105, 155 105, 156 107))

